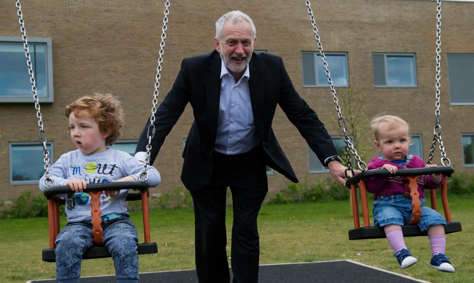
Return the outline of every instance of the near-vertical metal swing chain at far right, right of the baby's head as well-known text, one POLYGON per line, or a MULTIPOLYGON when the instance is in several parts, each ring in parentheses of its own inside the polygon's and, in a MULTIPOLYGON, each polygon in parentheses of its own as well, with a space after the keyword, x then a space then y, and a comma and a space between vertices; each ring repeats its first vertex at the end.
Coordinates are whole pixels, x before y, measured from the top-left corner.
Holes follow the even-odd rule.
POLYGON ((450 166, 451 160, 446 157, 446 152, 444 150, 443 140, 441 139, 441 125, 440 125, 440 117, 439 117, 439 108, 440 104, 440 97, 441 97, 441 83, 439 82, 441 79, 441 0, 437 0, 437 7, 436 7, 436 110, 435 110, 435 128, 433 130, 433 142, 431 144, 430 156, 428 157, 427 164, 432 164, 433 155, 435 153, 436 148, 436 141, 439 142, 439 149, 441 149, 441 164, 444 166, 450 166))

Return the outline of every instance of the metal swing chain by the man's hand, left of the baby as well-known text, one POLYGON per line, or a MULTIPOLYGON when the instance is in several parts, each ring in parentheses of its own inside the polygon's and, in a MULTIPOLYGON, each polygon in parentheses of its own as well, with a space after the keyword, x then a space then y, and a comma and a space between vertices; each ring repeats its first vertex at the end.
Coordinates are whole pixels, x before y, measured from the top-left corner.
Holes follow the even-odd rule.
POLYGON ((329 87, 331 89, 331 94, 332 94, 332 97, 333 97, 334 104, 336 105, 336 111, 337 111, 337 116, 338 116, 337 123, 339 124, 339 129, 344 134, 344 141, 346 141, 346 148, 345 149, 346 149, 347 169, 346 169, 345 174, 346 174, 346 177, 351 177, 351 176, 348 176, 348 174, 347 174, 348 171, 351 171, 352 176, 354 176, 354 170, 351 168, 351 166, 352 166, 351 152, 356 157, 357 166, 360 170, 362 170, 362 171, 367 170, 367 165, 362 160, 360 160, 360 156, 357 154, 357 151, 354 148, 354 144, 351 142, 351 139, 349 138, 349 136, 347 134, 346 120, 344 119, 344 116, 341 113, 341 107, 339 106, 339 100, 336 97, 336 90, 334 89, 334 85, 332 83, 331 73, 329 72, 329 69, 327 67, 326 55, 324 55, 324 51, 322 50, 321 40, 320 40, 319 34, 317 32, 316 21, 315 21, 315 17, 313 15, 313 10, 311 9, 311 3, 310 3, 309 0, 306 0, 306 6, 308 7, 308 14, 310 15, 311 24, 313 26, 313 33, 315 34, 315 38, 316 38, 316 41, 317 41, 317 48, 319 49, 319 53, 321 55, 322 65, 324 67, 324 70, 326 71, 327 81, 328 81, 329 87))

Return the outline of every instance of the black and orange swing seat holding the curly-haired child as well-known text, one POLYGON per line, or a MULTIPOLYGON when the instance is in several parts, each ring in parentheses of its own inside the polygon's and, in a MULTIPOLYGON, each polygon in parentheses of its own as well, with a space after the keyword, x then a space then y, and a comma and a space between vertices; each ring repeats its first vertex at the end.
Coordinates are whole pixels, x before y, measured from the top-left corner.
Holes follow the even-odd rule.
MULTIPOLYGON (((132 182, 111 182, 101 184, 88 184, 84 192, 107 191, 134 189, 140 193, 130 193, 125 201, 142 200, 143 226, 145 234, 145 243, 137 244, 138 254, 151 254, 158 252, 157 243, 150 242, 150 223, 148 214, 148 186, 141 181, 132 182)), ((59 206, 65 204, 64 199, 55 197, 58 194, 71 193, 69 186, 55 186, 44 190, 43 194, 48 199, 48 220, 49 220, 49 248, 42 250, 42 260, 46 262, 55 262, 55 244, 59 234, 59 206)), ((82 255, 82 259, 111 257, 111 254, 103 245, 94 243, 94 246, 87 248, 82 255)))

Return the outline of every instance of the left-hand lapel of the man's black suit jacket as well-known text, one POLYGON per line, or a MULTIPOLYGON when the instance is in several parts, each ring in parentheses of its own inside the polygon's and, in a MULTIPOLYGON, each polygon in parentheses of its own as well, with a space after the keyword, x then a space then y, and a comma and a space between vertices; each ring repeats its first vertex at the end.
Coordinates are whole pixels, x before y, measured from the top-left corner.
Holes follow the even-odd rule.
POLYGON ((212 148, 216 141, 217 119, 219 115, 219 100, 221 95, 221 58, 214 51, 213 58, 206 72, 207 119, 209 123, 209 138, 212 148))

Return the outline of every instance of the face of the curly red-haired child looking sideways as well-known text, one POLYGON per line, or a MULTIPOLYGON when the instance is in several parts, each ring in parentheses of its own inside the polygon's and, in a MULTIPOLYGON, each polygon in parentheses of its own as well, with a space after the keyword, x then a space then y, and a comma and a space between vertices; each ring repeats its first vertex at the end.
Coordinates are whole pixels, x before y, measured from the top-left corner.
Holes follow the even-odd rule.
POLYGON ((71 140, 83 154, 99 153, 107 150, 105 139, 109 136, 99 130, 95 119, 88 115, 76 117, 74 112, 69 114, 69 130, 71 140))

